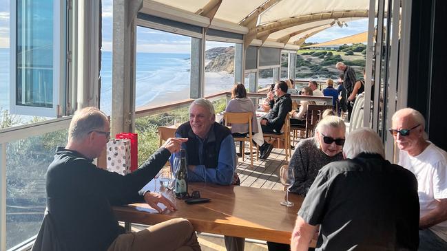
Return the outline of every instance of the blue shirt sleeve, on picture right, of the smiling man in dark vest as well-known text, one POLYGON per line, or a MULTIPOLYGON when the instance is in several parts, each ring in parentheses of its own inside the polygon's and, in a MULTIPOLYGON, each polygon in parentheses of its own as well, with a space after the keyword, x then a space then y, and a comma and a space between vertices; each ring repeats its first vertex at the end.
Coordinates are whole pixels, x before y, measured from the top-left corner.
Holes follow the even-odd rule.
POLYGON ((188 181, 230 185, 233 182, 235 167, 236 148, 233 136, 228 135, 220 144, 218 166, 216 168, 206 168, 205 165, 195 166, 194 171, 188 170, 188 181))

